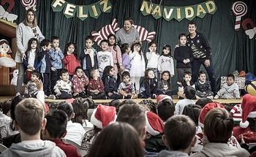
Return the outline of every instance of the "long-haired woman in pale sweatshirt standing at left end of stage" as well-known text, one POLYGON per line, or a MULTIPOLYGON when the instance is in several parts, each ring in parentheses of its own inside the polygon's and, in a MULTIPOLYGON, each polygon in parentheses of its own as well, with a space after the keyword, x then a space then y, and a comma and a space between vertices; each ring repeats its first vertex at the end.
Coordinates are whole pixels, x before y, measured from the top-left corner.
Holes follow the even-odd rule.
POLYGON ((20 23, 16 29, 18 51, 15 55, 15 61, 18 64, 19 69, 16 95, 20 95, 21 86, 23 84, 23 77, 25 74, 23 59, 26 59, 25 52, 28 47, 29 39, 31 38, 36 38, 39 42, 41 42, 42 39, 45 39, 37 26, 36 12, 34 12, 33 9, 28 9, 23 22, 20 23))

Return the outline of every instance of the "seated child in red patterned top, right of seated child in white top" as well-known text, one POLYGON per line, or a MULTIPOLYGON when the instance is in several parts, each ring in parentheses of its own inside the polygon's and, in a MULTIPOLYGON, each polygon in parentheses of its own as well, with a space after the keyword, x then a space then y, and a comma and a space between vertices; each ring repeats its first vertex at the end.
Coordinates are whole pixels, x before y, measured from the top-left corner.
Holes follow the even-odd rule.
POLYGON ((89 84, 89 79, 86 77, 86 74, 83 72, 81 66, 78 66, 75 69, 75 74, 72 77, 72 85, 73 85, 73 97, 82 97, 86 98, 85 85, 89 84))

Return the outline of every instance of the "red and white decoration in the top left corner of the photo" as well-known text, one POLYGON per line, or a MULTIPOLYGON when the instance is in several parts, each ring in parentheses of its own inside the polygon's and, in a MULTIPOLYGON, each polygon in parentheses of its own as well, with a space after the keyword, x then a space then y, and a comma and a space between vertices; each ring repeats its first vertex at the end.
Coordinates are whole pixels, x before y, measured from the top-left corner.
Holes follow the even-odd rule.
POLYGON ((18 18, 18 15, 10 14, 10 11, 14 7, 14 5, 15 5, 14 0, 2 0, 1 5, 0 5, 0 18, 13 23, 13 21, 18 18), (3 7, 4 4, 6 4, 6 3, 9 5, 7 10, 5 10, 3 7))

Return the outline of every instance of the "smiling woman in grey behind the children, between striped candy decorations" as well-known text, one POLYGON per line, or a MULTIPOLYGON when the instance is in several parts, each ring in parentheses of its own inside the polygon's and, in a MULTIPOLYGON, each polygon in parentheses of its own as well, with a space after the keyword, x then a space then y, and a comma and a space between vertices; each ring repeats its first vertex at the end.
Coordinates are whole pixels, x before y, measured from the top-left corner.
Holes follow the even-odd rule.
POLYGON ((127 43, 129 47, 132 47, 132 42, 140 40, 139 32, 136 28, 132 27, 133 24, 134 22, 131 18, 124 19, 124 27, 116 32, 116 42, 118 45, 127 43))

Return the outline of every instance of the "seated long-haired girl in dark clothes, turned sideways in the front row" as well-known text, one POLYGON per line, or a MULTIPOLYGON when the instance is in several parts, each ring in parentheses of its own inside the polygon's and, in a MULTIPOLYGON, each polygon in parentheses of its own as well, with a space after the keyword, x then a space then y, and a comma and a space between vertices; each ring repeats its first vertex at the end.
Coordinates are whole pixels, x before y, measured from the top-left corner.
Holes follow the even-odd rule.
POLYGON ((116 77, 114 77, 113 66, 106 66, 103 72, 102 81, 104 83, 104 88, 109 99, 123 99, 123 96, 117 93, 117 82, 116 77))

